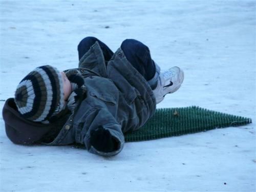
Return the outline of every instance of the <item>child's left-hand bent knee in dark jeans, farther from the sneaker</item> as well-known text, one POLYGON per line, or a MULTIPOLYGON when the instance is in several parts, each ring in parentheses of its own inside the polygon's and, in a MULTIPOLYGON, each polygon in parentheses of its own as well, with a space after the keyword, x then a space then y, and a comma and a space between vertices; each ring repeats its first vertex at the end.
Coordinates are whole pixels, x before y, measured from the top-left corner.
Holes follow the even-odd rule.
POLYGON ((111 59, 114 53, 108 46, 95 37, 86 37, 83 38, 77 46, 79 60, 95 44, 96 41, 99 42, 99 46, 103 52, 105 60, 109 61, 111 59))

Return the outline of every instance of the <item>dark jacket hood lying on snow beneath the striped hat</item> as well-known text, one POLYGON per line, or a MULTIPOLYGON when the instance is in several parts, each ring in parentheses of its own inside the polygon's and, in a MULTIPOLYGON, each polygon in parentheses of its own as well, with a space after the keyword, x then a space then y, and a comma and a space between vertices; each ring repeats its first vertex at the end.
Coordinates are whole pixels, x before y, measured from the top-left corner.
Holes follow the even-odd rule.
POLYGON ((42 124, 24 119, 17 110, 14 98, 6 100, 3 118, 6 135, 15 144, 33 144, 53 127, 52 124, 42 124))

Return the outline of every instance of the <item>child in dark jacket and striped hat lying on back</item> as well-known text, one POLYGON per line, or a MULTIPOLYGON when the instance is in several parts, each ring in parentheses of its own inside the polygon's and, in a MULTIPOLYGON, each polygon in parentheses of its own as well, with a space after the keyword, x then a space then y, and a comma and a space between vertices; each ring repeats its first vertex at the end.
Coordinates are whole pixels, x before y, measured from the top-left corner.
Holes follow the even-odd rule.
POLYGON ((113 53, 97 38, 86 37, 78 54, 79 68, 59 72, 41 66, 20 81, 3 109, 12 142, 81 143, 91 153, 116 155, 123 133, 139 129, 184 78, 178 67, 160 73, 150 50, 134 39, 124 40, 113 53))

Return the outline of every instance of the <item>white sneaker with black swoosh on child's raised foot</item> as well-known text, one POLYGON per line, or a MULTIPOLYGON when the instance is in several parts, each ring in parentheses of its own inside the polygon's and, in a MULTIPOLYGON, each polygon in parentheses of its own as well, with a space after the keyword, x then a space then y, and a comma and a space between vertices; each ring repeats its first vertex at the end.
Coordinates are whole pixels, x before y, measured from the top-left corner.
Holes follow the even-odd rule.
POLYGON ((153 90, 156 102, 160 103, 168 93, 176 92, 183 82, 184 72, 179 67, 173 67, 160 73, 157 87, 153 90))

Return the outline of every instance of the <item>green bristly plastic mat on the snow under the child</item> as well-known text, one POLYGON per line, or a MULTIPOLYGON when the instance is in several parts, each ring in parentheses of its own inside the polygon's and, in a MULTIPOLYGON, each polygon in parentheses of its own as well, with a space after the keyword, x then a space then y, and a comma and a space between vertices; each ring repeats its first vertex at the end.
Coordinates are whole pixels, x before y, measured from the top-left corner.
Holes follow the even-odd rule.
POLYGON ((125 134, 125 141, 145 141, 217 128, 251 123, 251 119, 189 106, 157 109, 154 116, 139 130, 125 134))

